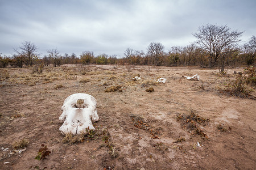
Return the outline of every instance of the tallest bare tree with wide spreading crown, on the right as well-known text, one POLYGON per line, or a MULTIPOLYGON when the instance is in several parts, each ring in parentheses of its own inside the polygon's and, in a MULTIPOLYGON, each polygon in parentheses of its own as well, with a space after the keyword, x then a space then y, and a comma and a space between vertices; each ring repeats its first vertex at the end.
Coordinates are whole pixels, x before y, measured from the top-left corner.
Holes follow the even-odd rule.
POLYGON ((228 26, 203 25, 199 27, 198 33, 193 34, 198 40, 201 48, 208 52, 209 67, 213 67, 217 63, 217 59, 221 53, 225 53, 226 49, 235 48, 243 32, 230 31, 228 26), (228 48, 227 48, 228 47, 228 48))

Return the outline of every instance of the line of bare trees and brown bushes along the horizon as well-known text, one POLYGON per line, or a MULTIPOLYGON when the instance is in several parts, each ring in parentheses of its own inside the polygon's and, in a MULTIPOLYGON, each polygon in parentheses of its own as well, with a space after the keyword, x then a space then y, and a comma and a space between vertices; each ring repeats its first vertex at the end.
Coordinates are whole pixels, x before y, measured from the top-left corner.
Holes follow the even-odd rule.
MULTIPOLYGON (((197 41, 187 46, 171 46, 166 52, 162 43, 151 42, 146 52, 127 48, 123 57, 120 58, 104 53, 94 56, 94 53, 89 50, 82 52, 79 57, 74 53, 71 55, 65 53, 61 56, 57 49, 47 50, 48 55, 39 56, 38 47, 30 41, 24 41, 22 46, 14 50, 16 53, 14 56, 0 55, 0 67, 33 66, 34 58, 37 56, 38 62, 45 66, 52 64, 55 67, 61 64, 201 66, 218 67, 220 73, 225 74, 227 66, 254 65, 255 36, 252 36, 244 45, 238 46, 242 33, 232 31, 226 25, 207 24, 199 27, 198 32, 193 34, 197 41)), ((33 71, 40 73, 40 68, 33 71)))

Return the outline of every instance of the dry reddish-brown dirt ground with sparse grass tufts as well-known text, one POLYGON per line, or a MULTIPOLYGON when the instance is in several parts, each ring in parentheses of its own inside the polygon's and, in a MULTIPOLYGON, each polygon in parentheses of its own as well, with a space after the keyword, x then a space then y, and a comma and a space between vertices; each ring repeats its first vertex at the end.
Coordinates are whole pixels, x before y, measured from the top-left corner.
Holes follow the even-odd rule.
POLYGON ((199 67, 117 65, 45 67, 40 75, 26 68, 0 71, 0 169, 256 167, 255 100, 218 91, 242 68, 226 76, 199 67), (196 73, 200 81, 182 78, 196 73), (138 74, 141 80, 133 81, 138 74), (158 78, 167 82, 155 83, 158 78), (117 85, 122 92, 104 92, 117 85), (154 91, 146 92, 149 87, 154 91), (100 120, 93 137, 68 145, 59 131, 61 105, 78 92, 95 97, 100 120), (177 118, 191 112, 208 119, 198 124, 205 136, 177 118), (24 138, 28 145, 15 149, 24 138), (42 144, 51 154, 36 160, 42 144))

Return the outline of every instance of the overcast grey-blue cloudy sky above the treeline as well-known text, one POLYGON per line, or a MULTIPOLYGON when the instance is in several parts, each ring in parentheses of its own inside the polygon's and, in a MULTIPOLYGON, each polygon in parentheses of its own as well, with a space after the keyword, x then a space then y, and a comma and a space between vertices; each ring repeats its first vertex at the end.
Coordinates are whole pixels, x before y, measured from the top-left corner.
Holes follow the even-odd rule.
POLYGON ((206 24, 244 31, 243 43, 256 36, 255 8, 255 0, 0 0, 0 53, 12 55, 24 41, 42 55, 57 48, 122 57, 150 42, 167 51, 195 41, 206 24))

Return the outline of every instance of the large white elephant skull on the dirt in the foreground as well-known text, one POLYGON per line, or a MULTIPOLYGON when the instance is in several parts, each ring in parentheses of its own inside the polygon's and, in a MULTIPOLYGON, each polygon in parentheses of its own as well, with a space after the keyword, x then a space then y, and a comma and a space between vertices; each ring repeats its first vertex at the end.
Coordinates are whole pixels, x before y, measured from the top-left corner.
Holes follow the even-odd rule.
POLYGON ((64 121, 60 127, 63 134, 86 133, 86 128, 95 130, 92 121, 98 121, 96 99, 88 94, 73 94, 65 99, 59 120, 64 121))

